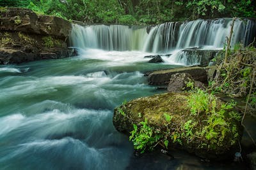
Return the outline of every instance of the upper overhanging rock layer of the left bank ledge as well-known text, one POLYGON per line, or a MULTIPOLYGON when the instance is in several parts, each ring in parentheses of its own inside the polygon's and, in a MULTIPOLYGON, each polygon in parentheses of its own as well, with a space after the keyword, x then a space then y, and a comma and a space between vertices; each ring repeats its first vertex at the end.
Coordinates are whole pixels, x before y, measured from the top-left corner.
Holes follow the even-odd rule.
POLYGON ((7 8, 0 13, 0 31, 22 31, 28 34, 40 34, 67 38, 71 24, 67 20, 48 15, 36 15, 25 8, 7 8))

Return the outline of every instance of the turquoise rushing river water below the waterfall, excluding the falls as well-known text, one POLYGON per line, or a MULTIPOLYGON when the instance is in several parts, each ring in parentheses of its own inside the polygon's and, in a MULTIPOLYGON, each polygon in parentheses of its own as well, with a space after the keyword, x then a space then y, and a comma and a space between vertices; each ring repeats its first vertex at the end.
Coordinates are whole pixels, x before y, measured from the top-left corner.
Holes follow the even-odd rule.
POLYGON ((113 109, 157 93, 143 71, 176 67, 144 55, 97 50, 0 66, 0 169, 125 169, 132 144, 113 127, 113 109))

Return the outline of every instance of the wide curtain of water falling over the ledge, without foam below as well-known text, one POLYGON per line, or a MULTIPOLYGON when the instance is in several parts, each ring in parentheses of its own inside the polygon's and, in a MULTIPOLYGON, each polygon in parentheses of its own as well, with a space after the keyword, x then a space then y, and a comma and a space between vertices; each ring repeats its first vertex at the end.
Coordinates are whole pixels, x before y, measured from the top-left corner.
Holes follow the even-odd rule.
MULTIPOLYGON (((167 22, 156 26, 72 25, 70 44, 78 48, 102 50, 138 50, 171 53, 173 50, 200 47, 221 49, 230 32, 232 18, 167 22), (148 30, 147 30, 148 29, 148 30)), ((248 45, 255 37, 255 20, 239 20, 234 24, 231 46, 248 45)))

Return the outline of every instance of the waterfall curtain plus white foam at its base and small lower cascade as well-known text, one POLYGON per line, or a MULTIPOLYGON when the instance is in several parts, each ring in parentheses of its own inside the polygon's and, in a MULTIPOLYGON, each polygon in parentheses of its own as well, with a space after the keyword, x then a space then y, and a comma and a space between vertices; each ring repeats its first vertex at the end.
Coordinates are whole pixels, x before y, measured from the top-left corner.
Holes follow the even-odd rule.
MULTIPOLYGON (((201 50, 221 50, 229 35, 231 24, 232 18, 184 23, 167 22, 151 27, 149 32, 146 26, 87 25, 83 27, 74 24, 70 44, 79 48, 80 54, 90 56, 91 59, 104 58, 118 64, 149 60, 143 59, 145 55, 172 54, 169 57, 163 57, 164 62, 196 65, 200 64, 200 59, 191 59, 193 56, 182 50, 194 47, 201 50)), ((255 36, 255 29, 255 21, 237 19, 231 46, 234 47, 237 43, 248 45, 255 36)))

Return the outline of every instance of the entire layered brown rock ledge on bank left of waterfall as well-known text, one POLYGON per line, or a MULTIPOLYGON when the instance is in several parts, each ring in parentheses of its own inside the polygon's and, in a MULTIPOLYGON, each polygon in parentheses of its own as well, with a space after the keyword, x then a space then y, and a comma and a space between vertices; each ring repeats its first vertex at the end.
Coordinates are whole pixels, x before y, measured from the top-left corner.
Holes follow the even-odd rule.
POLYGON ((24 8, 0 11, 0 64, 68 57, 72 27, 59 17, 36 15, 24 8))

